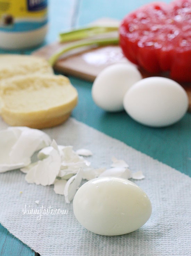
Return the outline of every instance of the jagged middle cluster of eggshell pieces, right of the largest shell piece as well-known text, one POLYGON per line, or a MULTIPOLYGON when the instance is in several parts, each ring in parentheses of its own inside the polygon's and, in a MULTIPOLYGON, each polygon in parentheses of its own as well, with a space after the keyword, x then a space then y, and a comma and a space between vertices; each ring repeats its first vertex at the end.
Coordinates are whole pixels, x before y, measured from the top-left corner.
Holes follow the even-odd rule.
POLYGON ((53 184, 55 193, 64 195, 69 203, 80 186, 83 168, 90 163, 78 156, 72 146, 57 145, 55 140, 41 149, 37 156, 39 161, 21 169, 27 173, 26 181, 43 186, 53 184))

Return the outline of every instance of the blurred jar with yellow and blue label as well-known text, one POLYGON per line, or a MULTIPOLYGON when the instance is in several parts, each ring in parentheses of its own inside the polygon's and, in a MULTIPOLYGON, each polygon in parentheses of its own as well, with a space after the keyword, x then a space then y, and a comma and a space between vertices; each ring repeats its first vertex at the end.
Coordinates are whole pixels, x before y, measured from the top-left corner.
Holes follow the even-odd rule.
POLYGON ((0 0, 0 48, 41 44, 48 30, 48 0, 0 0))

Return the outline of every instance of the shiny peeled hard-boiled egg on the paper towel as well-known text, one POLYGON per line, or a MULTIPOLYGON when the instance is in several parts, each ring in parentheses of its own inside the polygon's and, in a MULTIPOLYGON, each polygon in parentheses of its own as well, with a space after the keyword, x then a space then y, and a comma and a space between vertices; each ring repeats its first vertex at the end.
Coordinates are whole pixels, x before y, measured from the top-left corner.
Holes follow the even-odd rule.
POLYGON ((135 183, 100 177, 76 192, 73 210, 78 222, 99 235, 123 235, 137 230, 150 218, 151 202, 135 183))

